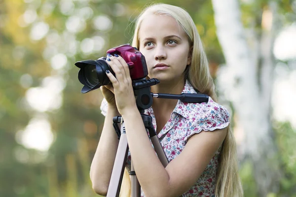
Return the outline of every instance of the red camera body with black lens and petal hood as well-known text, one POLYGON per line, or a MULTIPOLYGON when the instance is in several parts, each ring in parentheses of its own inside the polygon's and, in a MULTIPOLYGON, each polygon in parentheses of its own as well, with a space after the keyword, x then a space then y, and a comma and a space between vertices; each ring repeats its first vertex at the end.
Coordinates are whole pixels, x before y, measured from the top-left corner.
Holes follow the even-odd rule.
MULTIPOLYGON (((138 80, 148 76, 145 57, 136 47, 132 47, 130 44, 123 44, 109 49, 107 53, 111 55, 117 54, 124 59, 129 66, 132 80, 138 80)), ((107 64, 106 57, 99 58, 98 60, 78 61, 75 63, 75 66, 80 68, 78 71, 78 80, 84 85, 81 93, 87 93, 110 84, 111 82, 106 75, 106 70, 110 70, 115 75, 111 67, 107 64)))

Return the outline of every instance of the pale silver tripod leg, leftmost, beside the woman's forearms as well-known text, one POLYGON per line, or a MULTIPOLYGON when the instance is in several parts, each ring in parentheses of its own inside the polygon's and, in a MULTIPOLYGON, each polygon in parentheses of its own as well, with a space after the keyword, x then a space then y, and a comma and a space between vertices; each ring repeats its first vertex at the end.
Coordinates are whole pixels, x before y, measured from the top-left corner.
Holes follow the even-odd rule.
POLYGON ((107 192, 107 197, 119 197, 120 186, 122 182, 124 167, 128 154, 128 144, 124 128, 124 123, 121 125, 121 135, 115 156, 115 161, 111 173, 111 179, 107 192))

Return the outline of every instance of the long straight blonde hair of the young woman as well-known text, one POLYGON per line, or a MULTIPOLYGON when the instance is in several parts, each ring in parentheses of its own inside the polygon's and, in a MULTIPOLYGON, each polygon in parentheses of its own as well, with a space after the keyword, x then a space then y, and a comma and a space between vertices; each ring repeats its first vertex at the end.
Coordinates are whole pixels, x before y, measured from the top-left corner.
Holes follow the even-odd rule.
MULTIPOLYGON (((210 75, 209 65, 206 53, 196 26, 185 9, 169 4, 152 4, 142 11, 137 18, 134 37, 132 41, 133 47, 139 48, 139 29, 145 16, 148 14, 166 14, 173 17, 178 24, 184 29, 188 36, 189 43, 192 47, 191 64, 186 70, 186 79, 192 87, 202 93, 209 95, 214 101, 218 102, 215 93, 215 85, 210 75)), ((126 171, 127 172, 127 171, 126 171)), ((125 172, 125 173, 126 173, 125 172)), ((125 175, 125 179, 128 176, 125 175)), ((227 134, 222 144, 222 151, 217 170, 216 179, 216 197, 242 197, 243 189, 238 174, 238 162, 236 156, 236 143, 234 135, 227 127, 227 134)), ((124 197, 130 196, 126 194, 124 197)))

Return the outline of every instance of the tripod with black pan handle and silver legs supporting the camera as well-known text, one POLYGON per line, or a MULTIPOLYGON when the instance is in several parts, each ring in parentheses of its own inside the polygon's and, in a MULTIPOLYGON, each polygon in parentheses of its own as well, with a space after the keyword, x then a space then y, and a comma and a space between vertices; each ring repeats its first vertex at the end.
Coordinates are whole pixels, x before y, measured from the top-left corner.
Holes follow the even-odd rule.
MULTIPOLYGON (((153 94, 150 93, 150 86, 156 85, 159 83, 158 79, 140 79, 137 81, 133 81, 133 89, 136 98, 137 107, 141 113, 142 120, 146 130, 149 132, 150 140, 153 144, 155 152, 161 162, 161 164, 166 167, 169 163, 165 152, 161 146, 160 140, 157 137, 157 133, 154 130, 152 125, 152 117, 144 114, 144 110, 148 109, 152 105, 152 97, 162 98, 162 99, 180 99, 183 102, 208 102, 209 96, 204 94, 181 94, 181 95, 171 95, 171 94, 153 94)), ((128 155, 128 143, 127 137, 124 127, 124 121, 121 116, 113 117, 113 127, 117 133, 119 144, 115 156, 115 161, 111 173, 110 184, 107 192, 107 197, 118 197, 120 192, 120 186, 122 182, 124 166, 126 163, 127 155, 128 155), (121 123, 121 129, 118 127, 118 123, 121 123)), ((132 197, 140 197, 141 196, 141 186, 136 176, 136 172, 134 171, 132 159, 131 159, 131 183, 132 197)))

